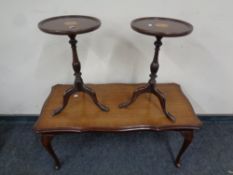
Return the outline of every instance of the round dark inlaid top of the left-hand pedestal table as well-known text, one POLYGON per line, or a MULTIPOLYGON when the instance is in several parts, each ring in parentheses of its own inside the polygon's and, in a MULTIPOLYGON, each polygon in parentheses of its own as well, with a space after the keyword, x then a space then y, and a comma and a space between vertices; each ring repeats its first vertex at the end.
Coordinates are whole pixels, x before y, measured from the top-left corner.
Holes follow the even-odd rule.
POLYGON ((98 29, 99 19, 91 16, 57 16, 45 19, 38 24, 40 30, 57 35, 76 35, 98 29))

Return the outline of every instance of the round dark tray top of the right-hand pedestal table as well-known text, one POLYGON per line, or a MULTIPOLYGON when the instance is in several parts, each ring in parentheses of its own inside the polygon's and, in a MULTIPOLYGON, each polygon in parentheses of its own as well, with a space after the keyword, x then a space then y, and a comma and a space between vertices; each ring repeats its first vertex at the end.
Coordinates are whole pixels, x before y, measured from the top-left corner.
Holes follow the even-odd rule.
POLYGON ((193 30, 193 26, 185 21, 160 17, 135 19, 131 27, 139 33, 160 37, 184 36, 193 30))

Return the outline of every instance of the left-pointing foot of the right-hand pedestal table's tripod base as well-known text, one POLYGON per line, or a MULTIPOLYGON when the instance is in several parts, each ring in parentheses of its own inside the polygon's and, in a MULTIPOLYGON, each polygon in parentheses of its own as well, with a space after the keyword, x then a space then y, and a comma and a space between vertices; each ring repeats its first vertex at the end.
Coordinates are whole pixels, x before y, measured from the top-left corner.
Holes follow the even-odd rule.
POLYGON ((119 104, 119 108, 127 108, 129 105, 131 105, 133 102, 136 101, 136 99, 143 93, 150 92, 149 85, 146 85, 144 87, 137 88, 134 92, 131 98, 124 103, 119 104))

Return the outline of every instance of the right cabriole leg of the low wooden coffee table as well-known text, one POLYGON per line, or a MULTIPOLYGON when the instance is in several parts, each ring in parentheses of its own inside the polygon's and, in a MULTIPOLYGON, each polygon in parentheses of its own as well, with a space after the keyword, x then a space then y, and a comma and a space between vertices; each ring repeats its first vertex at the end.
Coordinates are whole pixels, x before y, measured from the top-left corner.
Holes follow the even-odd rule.
POLYGON ((184 142, 183 142, 183 145, 182 145, 182 147, 181 147, 181 149, 176 157, 175 164, 176 164, 177 168, 179 168, 181 166, 181 164, 180 164, 181 156, 183 155, 183 153, 188 148, 188 146, 192 143, 192 140, 193 140, 193 130, 180 131, 180 133, 184 137, 184 142))

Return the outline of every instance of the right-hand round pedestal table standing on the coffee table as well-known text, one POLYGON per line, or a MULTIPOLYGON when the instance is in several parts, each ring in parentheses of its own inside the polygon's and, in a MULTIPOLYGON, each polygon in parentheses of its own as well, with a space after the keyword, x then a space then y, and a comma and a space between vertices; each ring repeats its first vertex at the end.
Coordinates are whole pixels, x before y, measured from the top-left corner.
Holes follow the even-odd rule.
POLYGON ((170 18, 158 18, 158 17, 148 17, 135 19, 131 23, 131 27, 139 32, 146 35, 155 36, 155 54, 153 61, 150 65, 150 80, 144 87, 139 87, 133 92, 132 97, 125 103, 119 105, 120 108, 126 108, 131 105, 137 98, 143 93, 152 93, 158 97, 160 105, 166 117, 172 122, 176 121, 176 118, 167 111, 166 108, 166 98, 164 94, 156 86, 156 77, 159 70, 159 50, 162 45, 163 37, 177 37, 184 36, 192 32, 193 27, 191 24, 184 21, 170 19, 170 18))

